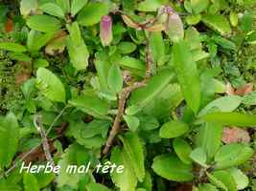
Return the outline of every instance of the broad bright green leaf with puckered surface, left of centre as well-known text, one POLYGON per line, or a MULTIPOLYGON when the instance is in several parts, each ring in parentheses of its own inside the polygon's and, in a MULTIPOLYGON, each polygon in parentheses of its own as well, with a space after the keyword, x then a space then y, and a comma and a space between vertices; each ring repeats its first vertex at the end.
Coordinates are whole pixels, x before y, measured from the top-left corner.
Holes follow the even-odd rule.
POLYGON ((57 75, 45 68, 36 71, 37 87, 52 101, 65 102, 65 88, 57 75))

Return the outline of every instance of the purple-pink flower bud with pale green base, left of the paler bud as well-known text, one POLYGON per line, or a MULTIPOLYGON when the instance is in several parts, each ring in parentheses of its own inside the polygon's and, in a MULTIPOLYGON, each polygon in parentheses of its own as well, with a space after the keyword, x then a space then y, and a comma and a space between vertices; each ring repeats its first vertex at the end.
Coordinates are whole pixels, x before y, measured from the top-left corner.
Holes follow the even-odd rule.
POLYGON ((102 17, 100 24, 100 38, 103 46, 110 45, 111 41, 113 40, 112 19, 108 15, 102 17))

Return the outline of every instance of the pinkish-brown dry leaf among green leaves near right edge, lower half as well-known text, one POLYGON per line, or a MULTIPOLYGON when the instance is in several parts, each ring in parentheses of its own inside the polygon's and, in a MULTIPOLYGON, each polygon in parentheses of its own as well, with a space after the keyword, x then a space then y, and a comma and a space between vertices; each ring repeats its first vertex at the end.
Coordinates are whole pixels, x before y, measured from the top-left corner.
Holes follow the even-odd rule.
POLYGON ((225 127, 223 130, 222 141, 226 144, 235 142, 249 142, 250 137, 246 130, 237 127, 225 127))

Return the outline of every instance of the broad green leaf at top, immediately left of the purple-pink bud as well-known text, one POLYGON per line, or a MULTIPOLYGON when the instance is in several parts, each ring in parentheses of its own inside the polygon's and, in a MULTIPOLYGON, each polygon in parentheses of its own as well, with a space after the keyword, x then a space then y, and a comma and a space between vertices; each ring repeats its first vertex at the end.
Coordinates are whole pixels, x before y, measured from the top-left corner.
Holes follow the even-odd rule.
POLYGON ((92 26, 101 21, 102 16, 108 13, 106 3, 98 2, 86 5, 78 14, 77 21, 82 26, 92 26))

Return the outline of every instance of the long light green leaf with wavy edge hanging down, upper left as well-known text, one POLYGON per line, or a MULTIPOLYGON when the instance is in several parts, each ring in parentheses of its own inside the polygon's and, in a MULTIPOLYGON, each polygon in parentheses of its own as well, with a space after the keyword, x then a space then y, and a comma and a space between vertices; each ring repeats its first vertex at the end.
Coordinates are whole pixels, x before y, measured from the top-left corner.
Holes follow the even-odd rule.
POLYGON ((77 22, 68 28, 70 36, 67 40, 68 54, 71 63, 78 70, 84 70, 88 66, 89 52, 81 38, 81 31, 77 22))

